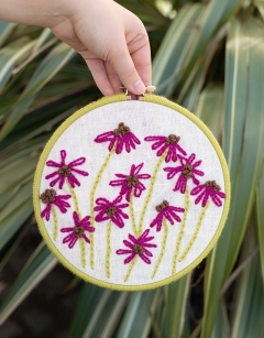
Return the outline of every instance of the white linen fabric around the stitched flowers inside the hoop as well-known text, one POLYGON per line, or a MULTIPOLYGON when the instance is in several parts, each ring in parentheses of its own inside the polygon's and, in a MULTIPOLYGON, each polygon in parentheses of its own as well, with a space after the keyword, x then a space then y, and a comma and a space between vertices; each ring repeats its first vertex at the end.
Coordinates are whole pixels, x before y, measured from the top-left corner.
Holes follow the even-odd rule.
MULTIPOLYGON (((86 162, 76 168, 86 171, 89 173, 89 175, 85 177, 76 174, 76 177, 80 182, 80 186, 75 187, 75 193, 82 218, 85 216, 89 216, 91 212, 91 189, 98 172, 106 156, 109 154, 109 142, 96 143, 94 140, 99 134, 117 129, 120 122, 124 122, 124 124, 131 129, 131 132, 136 135, 136 138, 141 141, 141 144, 136 144, 135 150, 132 150, 130 153, 127 153, 127 151, 123 149, 121 154, 114 153, 110 157, 108 166, 106 167, 101 181, 96 189, 96 198, 103 197, 109 200, 113 200, 119 195, 120 187, 110 186, 109 182, 118 179, 114 174, 129 175, 132 164, 139 165, 144 163, 140 174, 153 175, 153 170, 160 157, 156 155, 156 150, 152 150, 153 142, 146 142, 144 141, 144 138, 151 135, 167 137, 169 134, 180 137, 178 144, 187 152, 187 156, 195 153, 196 161, 202 161, 198 170, 202 171, 205 176, 197 176, 200 184, 207 181, 216 179, 221 187, 221 192, 224 192, 223 172, 216 150, 207 135, 191 120, 170 108, 157 103, 144 101, 116 102, 102 106, 81 116, 58 138, 47 156, 47 161, 52 160, 59 163, 61 151, 65 150, 67 152, 66 163, 69 163, 78 157, 86 157, 86 162)), ((129 240, 129 233, 133 233, 129 207, 123 209, 123 211, 130 217, 128 220, 124 220, 124 227, 120 229, 114 223, 111 227, 110 277, 107 277, 105 268, 108 221, 95 223, 95 269, 91 269, 89 265, 90 248, 88 243, 86 244, 87 264, 85 268, 81 266, 79 244, 76 243, 73 249, 69 249, 68 243, 63 243, 63 239, 68 233, 63 233, 59 230, 64 227, 74 227, 73 212, 75 210, 75 206, 73 198, 68 200, 70 203, 70 208, 68 208, 66 214, 62 214, 58 209, 56 209, 59 228, 56 241, 53 240, 54 220, 52 215, 48 221, 43 218, 51 240, 68 262, 87 275, 99 281, 119 285, 143 285, 158 282, 172 276, 173 257, 182 223, 175 221, 172 226, 167 221, 168 237, 166 247, 154 277, 152 277, 152 273, 161 255, 164 229, 157 232, 156 228, 150 228, 150 223, 157 216, 155 207, 163 200, 168 200, 169 205, 176 207, 185 207, 185 195, 173 190, 177 182, 178 174, 174 178, 167 179, 167 173, 163 170, 167 166, 178 165, 180 165, 179 161, 176 163, 172 161, 169 163, 163 162, 161 170, 157 173, 153 194, 146 209, 143 229, 143 231, 150 229, 150 236, 154 237, 151 242, 157 244, 157 248, 150 248, 150 251, 153 253, 153 257, 150 257, 151 264, 146 264, 138 257, 135 265, 133 266, 127 282, 124 282, 124 276, 131 263, 124 264, 124 259, 129 257, 129 254, 117 254, 116 252, 119 249, 129 250, 129 248, 127 248, 123 243, 123 240, 129 240)), ((44 166, 40 195, 45 189, 51 189, 50 183, 52 179, 45 179, 45 176, 53 173, 55 170, 56 168, 47 165, 44 166)), ((145 185, 146 189, 142 193, 140 198, 133 198, 134 214, 138 223, 145 197, 150 190, 151 179, 142 179, 141 182, 145 185)), ((191 178, 188 179, 188 186, 190 190, 195 187, 191 178)), ((58 185, 55 185, 54 189, 57 192, 57 195, 69 194, 69 189, 66 184, 62 190, 58 189, 58 185)), ((187 214, 185 232, 180 243, 178 257, 184 252, 186 246, 194 236, 194 231, 202 209, 201 203, 195 205, 196 197, 197 196, 189 197, 189 211, 187 214)), ((123 203, 127 203, 124 197, 122 200, 123 203)), ((224 204, 224 199, 222 199, 222 201, 224 204)), ((43 209, 45 205, 42 204, 41 200, 40 204, 41 208, 43 209)), ((223 206, 218 207, 210 201, 194 244, 191 246, 186 258, 182 262, 177 262, 176 274, 191 264, 206 250, 219 227, 222 211, 223 206)), ((95 215, 97 214, 98 212, 95 212, 95 215)), ((183 212, 178 212, 178 216, 183 219, 183 212)), ((90 233, 86 232, 86 235, 89 238, 90 233)))

